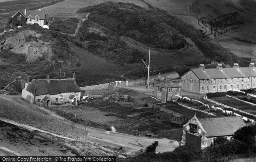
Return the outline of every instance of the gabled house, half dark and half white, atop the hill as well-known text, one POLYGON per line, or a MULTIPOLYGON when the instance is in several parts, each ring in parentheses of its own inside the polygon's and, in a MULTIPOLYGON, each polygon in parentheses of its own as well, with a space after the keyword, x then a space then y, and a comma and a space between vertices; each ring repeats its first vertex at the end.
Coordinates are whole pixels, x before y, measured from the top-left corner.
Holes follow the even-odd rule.
POLYGON ((23 27, 24 25, 38 24, 44 26, 46 24, 46 14, 39 10, 18 11, 12 16, 12 28, 23 27))

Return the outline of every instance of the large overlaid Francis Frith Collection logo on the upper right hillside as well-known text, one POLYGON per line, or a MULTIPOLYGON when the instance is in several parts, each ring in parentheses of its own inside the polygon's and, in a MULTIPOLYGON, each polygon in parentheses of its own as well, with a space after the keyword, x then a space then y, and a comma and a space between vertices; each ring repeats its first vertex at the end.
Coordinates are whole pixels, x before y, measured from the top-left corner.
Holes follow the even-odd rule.
POLYGON ((220 38, 227 34, 241 31, 244 22, 238 20, 238 12, 224 14, 219 17, 213 18, 212 16, 201 17, 198 20, 198 35, 213 36, 214 39, 220 38))

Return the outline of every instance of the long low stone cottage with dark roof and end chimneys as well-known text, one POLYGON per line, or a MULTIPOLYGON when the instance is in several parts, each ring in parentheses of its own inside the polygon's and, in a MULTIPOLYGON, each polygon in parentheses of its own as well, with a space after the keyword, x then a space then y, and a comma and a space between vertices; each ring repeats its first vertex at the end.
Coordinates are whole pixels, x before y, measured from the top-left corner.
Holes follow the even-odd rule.
POLYGON ((76 75, 70 79, 33 79, 27 78, 21 97, 29 103, 45 104, 54 103, 77 104, 81 98, 81 89, 76 85, 76 75))

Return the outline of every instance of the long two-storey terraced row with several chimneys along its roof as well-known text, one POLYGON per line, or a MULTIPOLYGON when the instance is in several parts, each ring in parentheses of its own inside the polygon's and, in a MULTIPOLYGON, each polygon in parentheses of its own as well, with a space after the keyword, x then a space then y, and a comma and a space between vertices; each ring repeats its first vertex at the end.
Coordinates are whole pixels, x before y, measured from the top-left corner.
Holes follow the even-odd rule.
POLYGON ((205 69, 204 64, 200 64, 198 69, 186 72, 181 80, 183 91, 196 94, 250 89, 255 88, 256 69, 254 63, 249 67, 234 64, 231 68, 222 68, 222 64, 218 64, 216 69, 205 69))

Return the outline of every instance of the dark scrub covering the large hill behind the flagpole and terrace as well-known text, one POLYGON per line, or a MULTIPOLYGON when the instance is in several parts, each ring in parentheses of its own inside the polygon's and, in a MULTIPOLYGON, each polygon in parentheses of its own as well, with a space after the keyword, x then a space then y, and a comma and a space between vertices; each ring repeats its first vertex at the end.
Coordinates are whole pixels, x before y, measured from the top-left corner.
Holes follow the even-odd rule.
MULTIPOLYGON (((126 56, 125 49, 127 48, 118 39, 118 36, 128 36, 149 47, 168 50, 179 50, 185 47, 186 41, 183 38, 188 37, 204 53, 204 56, 209 58, 207 62, 202 60, 205 64, 209 64, 210 61, 218 61, 229 65, 233 65, 234 62, 239 62, 241 66, 247 65, 246 60, 240 59, 229 50, 208 38, 199 37, 197 29, 192 25, 188 25, 150 4, 148 6, 149 9, 145 9, 131 3, 107 2, 81 8, 78 13, 90 12, 91 15, 79 31, 79 40, 88 41, 88 50, 93 53, 103 57, 109 53, 107 57, 114 59, 113 55, 119 56, 116 57, 117 59, 120 58, 120 55, 126 56), (91 28, 94 28, 93 35, 90 31, 91 28), (118 36, 113 38, 111 37, 113 35, 118 36), (115 44, 113 48, 109 47, 113 45, 113 42, 119 45, 115 44), (209 46, 205 46, 205 44, 209 46)), ((196 61, 192 59, 191 62, 196 61)))

